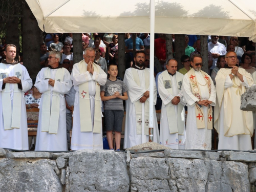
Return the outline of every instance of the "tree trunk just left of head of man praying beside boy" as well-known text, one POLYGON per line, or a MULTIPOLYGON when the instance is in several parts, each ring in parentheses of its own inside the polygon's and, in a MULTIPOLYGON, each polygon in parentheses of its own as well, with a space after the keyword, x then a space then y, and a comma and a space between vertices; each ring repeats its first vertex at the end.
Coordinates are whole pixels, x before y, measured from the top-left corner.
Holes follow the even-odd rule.
POLYGON ((82 60, 82 34, 73 33, 73 57, 74 64, 82 60))

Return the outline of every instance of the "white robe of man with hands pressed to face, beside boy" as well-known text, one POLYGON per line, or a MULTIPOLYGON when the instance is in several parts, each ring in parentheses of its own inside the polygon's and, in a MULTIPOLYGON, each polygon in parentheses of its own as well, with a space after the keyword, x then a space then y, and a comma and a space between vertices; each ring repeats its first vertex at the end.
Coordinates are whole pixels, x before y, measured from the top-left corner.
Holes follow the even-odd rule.
POLYGON ((73 121, 72 139, 71 139, 72 150, 83 150, 83 149, 101 149, 102 150, 103 149, 102 125, 101 125, 101 133, 80 131, 80 112, 79 112, 79 97, 78 97, 79 87, 78 86, 81 83, 89 81, 88 86, 89 86, 90 105, 91 105, 91 117, 92 117, 92 124, 93 124, 94 97, 96 93, 95 81, 97 81, 100 84, 100 86, 103 86, 106 83, 106 77, 107 77, 106 73, 101 68, 99 70, 99 74, 97 74, 97 72, 94 71, 92 75, 88 71, 80 73, 78 63, 76 63, 73 67, 71 78, 73 80, 74 89, 76 91, 76 98, 75 98, 75 105, 74 105, 74 112, 73 112, 74 121, 73 121))

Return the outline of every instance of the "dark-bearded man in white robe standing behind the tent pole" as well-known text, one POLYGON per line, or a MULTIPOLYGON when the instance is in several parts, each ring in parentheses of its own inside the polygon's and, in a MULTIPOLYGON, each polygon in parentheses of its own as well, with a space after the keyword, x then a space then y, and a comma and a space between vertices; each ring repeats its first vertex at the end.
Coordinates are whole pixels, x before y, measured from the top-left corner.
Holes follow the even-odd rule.
MULTIPOLYGON (((124 148, 148 142, 150 97, 157 100, 157 88, 154 81, 154 93, 150 93, 150 69, 145 68, 145 53, 137 51, 135 65, 127 69, 123 82, 128 87, 126 101, 126 119, 124 132, 124 148)), ((154 106, 154 142, 159 142, 159 131, 154 106)))

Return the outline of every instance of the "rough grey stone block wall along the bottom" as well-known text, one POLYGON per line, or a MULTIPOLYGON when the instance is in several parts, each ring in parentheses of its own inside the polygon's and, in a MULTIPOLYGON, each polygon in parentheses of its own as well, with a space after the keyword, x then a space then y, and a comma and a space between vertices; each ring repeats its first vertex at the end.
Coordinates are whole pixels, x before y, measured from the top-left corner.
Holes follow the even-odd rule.
POLYGON ((0 148, 0 191, 255 191, 256 153, 0 148))

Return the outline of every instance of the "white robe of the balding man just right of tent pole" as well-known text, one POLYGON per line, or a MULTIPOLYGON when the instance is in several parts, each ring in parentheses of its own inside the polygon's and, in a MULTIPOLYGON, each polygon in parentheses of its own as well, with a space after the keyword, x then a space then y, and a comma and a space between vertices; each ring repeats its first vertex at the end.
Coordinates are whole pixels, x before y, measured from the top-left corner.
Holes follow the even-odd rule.
MULTIPOLYGON (((179 73, 179 72, 177 72, 177 73, 179 73)), ((165 105, 167 105, 169 102, 172 102, 172 99, 175 96, 181 97, 180 102, 181 102, 181 104, 185 105, 185 103, 182 102, 182 97, 183 97, 182 92, 180 92, 180 93, 178 92, 176 74, 174 76, 172 76, 172 75, 169 75, 169 76, 170 76, 170 81, 172 82, 173 94, 170 94, 164 88, 162 73, 158 76, 159 95, 162 100, 164 98, 166 98, 162 102, 162 109, 161 109, 160 144, 162 144, 164 146, 168 146, 170 148, 184 150, 185 149, 185 140, 186 140, 185 124, 184 124, 184 135, 178 135, 178 133, 170 134, 170 131, 169 131, 167 111, 166 111, 165 105)), ((178 105, 174 105, 174 109, 176 112, 175 118, 177 118, 178 105)), ((184 113, 184 111, 182 113, 184 113)))

